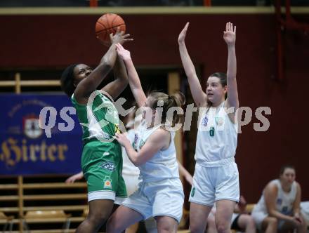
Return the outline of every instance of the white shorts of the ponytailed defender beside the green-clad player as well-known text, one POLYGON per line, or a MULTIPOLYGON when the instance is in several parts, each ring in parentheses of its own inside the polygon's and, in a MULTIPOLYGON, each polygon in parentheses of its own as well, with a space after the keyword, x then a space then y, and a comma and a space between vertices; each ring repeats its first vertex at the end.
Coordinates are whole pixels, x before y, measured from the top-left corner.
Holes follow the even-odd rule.
POLYGON ((183 215, 183 185, 179 178, 140 182, 140 187, 122 205, 143 215, 144 220, 169 216, 180 222, 183 215))

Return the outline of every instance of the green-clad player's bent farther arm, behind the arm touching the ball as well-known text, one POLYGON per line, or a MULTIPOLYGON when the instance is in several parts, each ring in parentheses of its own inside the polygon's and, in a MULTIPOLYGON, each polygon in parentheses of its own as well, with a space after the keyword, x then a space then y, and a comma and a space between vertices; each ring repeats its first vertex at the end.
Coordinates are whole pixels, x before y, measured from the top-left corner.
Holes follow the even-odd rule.
POLYGON ((119 56, 117 56, 113 70, 115 80, 104 86, 102 91, 106 91, 114 100, 121 94, 122 91, 124 91, 124 88, 128 85, 129 80, 124 61, 119 58, 119 56))

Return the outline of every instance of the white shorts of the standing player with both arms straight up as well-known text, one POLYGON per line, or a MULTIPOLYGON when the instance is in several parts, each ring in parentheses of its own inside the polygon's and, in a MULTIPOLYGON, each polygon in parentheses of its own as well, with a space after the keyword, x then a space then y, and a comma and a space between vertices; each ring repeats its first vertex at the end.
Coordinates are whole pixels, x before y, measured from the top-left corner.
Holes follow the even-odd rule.
POLYGON ((195 165, 190 202, 213 206, 215 201, 239 201, 239 174, 235 162, 225 166, 195 165))

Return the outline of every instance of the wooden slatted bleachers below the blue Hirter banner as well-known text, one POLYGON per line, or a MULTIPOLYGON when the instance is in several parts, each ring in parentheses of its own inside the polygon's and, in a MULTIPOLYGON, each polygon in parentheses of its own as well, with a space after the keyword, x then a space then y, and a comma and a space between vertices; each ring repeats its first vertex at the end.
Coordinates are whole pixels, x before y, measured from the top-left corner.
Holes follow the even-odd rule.
POLYGON ((65 178, 0 178, 0 230, 74 232, 88 208, 86 182, 66 184, 65 178))

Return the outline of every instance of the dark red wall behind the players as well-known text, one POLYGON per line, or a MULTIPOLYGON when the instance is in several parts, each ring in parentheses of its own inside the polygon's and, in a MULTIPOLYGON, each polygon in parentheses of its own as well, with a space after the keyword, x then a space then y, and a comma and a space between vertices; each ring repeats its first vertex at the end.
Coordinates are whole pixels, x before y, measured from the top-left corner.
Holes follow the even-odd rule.
MULTIPOLYGON (((72 62, 96 65, 105 48, 94 25, 100 15, 0 16, 1 55, 4 67, 65 67, 72 62)), ((180 65, 178 33, 190 21, 186 43, 192 60, 204 67, 206 78, 226 69, 223 41, 225 22, 237 25, 237 81, 242 106, 271 108, 267 132, 256 132, 253 122, 242 127, 237 147, 242 194, 258 201, 268 180, 282 164, 294 164, 303 200, 309 199, 308 121, 305 95, 309 86, 308 36, 284 36, 285 80, 275 76, 275 18, 272 15, 123 15, 134 41, 136 65, 180 65), (306 172, 307 171, 307 172, 306 172)))

